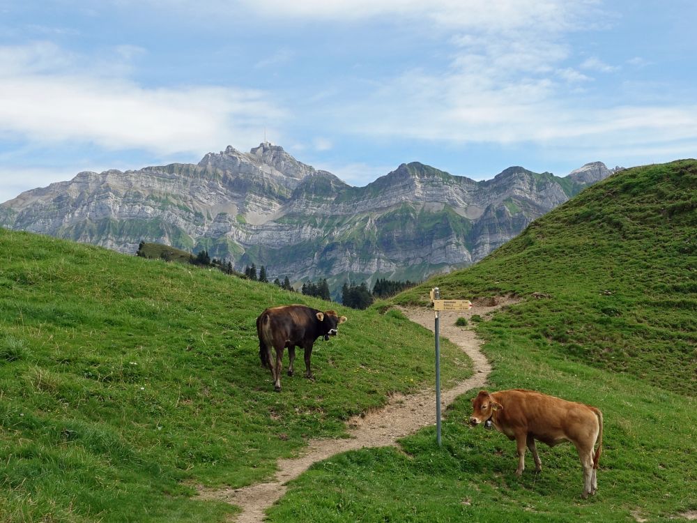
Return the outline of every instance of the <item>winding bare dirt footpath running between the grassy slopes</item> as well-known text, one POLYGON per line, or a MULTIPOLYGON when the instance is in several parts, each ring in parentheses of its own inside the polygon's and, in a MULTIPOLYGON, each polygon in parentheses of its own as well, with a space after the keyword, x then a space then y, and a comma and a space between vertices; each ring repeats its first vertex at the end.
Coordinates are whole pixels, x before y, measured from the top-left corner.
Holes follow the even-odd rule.
MULTIPOLYGON (((473 331, 454 326, 458 317, 470 319, 473 314, 486 318, 487 314, 516 303, 514 298, 500 297, 475 301, 473 308, 461 312, 441 312, 441 337, 447 338, 473 361, 472 377, 441 393, 443 411, 448 404, 470 388, 483 387, 491 372, 491 365, 480 351, 482 343, 473 331)), ((434 312, 423 308, 401 308, 406 316, 429 330, 434 330, 434 312)), ((382 409, 370 411, 348 420, 351 439, 312 439, 300 457, 278 461, 278 471, 267 483, 257 483, 239 489, 208 489, 199 487, 199 499, 215 499, 239 506, 242 512, 231 519, 238 523, 261 522, 266 509, 286 493, 286 482, 297 478, 312 464, 335 454, 366 447, 396 446, 397 439, 434 425, 436 392, 423 391, 412 395, 394 395, 382 409)))

